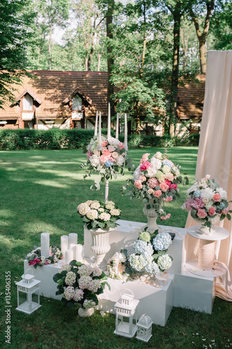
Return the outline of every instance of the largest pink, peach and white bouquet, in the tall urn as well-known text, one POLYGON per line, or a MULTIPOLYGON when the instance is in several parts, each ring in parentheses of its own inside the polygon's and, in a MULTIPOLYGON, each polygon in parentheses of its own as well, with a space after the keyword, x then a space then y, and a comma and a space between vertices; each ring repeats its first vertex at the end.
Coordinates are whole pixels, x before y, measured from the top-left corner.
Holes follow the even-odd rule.
MULTIPOLYGON (((143 198, 146 209, 155 209, 157 216, 162 220, 170 218, 171 214, 166 214, 164 202, 171 202, 179 197, 178 184, 183 183, 180 176, 180 166, 174 165, 169 160, 168 154, 157 151, 149 158, 150 154, 142 156, 140 164, 133 173, 133 178, 127 180, 127 186, 123 191, 129 192, 131 198, 143 198)), ((186 184, 188 183, 185 177, 186 184)))

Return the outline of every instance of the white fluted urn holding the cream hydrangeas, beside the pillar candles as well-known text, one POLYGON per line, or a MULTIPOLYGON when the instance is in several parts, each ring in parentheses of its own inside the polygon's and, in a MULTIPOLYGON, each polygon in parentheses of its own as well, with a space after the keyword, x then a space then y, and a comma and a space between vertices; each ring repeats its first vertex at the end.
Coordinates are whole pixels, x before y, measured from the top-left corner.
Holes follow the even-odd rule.
POLYGON ((91 250, 96 255, 95 265, 98 265, 103 271, 107 270, 105 255, 110 250, 109 234, 112 230, 115 230, 115 228, 89 230, 92 235, 91 250))

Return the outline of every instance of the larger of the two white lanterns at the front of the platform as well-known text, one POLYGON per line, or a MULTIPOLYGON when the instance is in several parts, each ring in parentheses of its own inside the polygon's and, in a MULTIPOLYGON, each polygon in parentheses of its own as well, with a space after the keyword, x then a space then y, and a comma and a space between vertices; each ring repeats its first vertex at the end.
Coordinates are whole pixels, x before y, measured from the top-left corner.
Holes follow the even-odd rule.
POLYGON ((116 309, 115 334, 132 338, 137 331, 137 306, 139 300, 134 299, 134 293, 127 288, 121 290, 121 297, 114 304, 116 309), (130 293, 128 294, 127 291, 130 293))

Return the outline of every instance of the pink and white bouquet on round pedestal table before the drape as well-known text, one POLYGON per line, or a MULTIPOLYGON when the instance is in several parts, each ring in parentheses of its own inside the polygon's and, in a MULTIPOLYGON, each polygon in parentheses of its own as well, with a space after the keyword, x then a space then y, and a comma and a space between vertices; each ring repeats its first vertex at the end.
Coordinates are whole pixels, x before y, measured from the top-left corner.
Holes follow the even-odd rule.
POLYGON ((231 220, 231 210, 227 201, 227 193, 210 174, 187 190, 187 200, 182 208, 191 212, 192 218, 205 227, 212 229, 212 225, 224 218, 231 220))

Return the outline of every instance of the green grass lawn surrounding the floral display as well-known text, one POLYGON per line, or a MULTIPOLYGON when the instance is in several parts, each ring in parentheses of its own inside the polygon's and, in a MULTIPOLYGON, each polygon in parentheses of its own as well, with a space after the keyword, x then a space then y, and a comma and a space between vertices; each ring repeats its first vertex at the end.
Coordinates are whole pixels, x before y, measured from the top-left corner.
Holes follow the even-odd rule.
MULTIPOLYGON (((133 149, 129 156, 137 166, 145 152, 154 154, 163 150, 133 149)), ((194 180, 197 150, 196 147, 169 149, 171 161, 182 166, 190 183, 194 180)), ((33 246, 40 246, 40 233, 49 232, 50 244, 59 245, 61 235, 77 232, 79 242, 84 243, 77 205, 88 199, 105 198, 104 186, 100 191, 90 191, 93 179, 82 180, 84 169, 80 165, 84 160, 81 150, 0 152, 1 348, 8 347, 4 337, 6 271, 10 271, 12 281, 12 348, 231 348, 231 304, 218 298, 212 315, 173 308, 165 327, 153 325, 153 337, 148 344, 114 335, 114 315, 102 317, 95 311, 91 318, 79 318, 76 309, 65 308, 61 302, 45 297, 41 298, 42 307, 31 315, 15 311, 14 281, 20 280, 26 254, 33 246)), ((126 171, 124 177, 110 182, 109 200, 122 209, 122 219, 146 222, 142 202, 122 197, 119 192, 128 177, 126 171)), ((181 188, 178 201, 167 204, 171 218, 164 224, 185 226, 187 211, 180 209, 185 190, 186 187, 181 188)))

